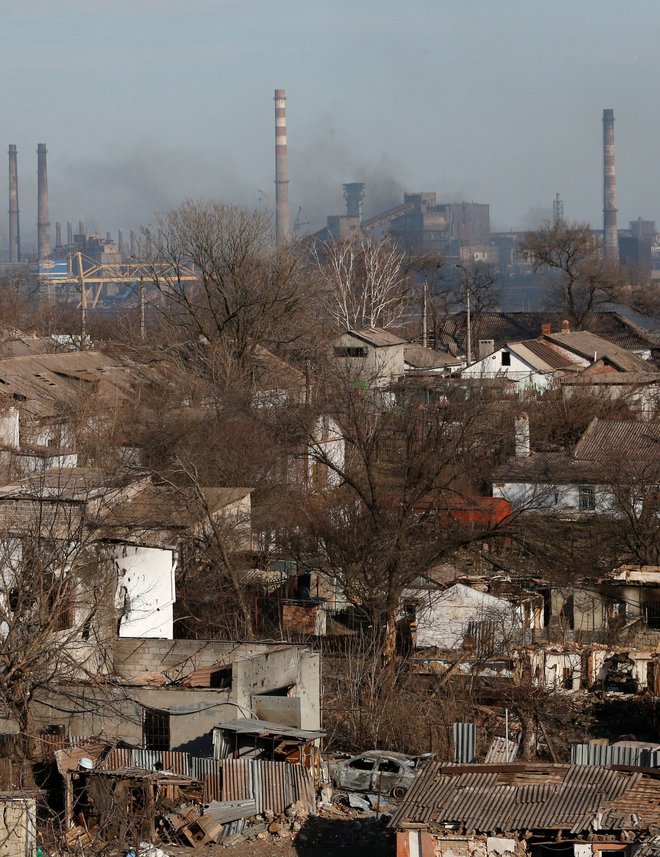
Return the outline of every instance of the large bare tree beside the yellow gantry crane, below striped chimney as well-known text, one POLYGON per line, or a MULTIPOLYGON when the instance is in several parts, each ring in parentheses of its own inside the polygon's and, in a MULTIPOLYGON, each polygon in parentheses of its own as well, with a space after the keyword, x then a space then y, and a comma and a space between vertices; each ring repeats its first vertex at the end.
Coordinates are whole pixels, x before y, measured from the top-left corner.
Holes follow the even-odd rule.
POLYGON ((274 247, 267 213, 188 201, 142 237, 153 306, 184 337, 222 342, 241 359, 300 335, 303 257, 274 247))

